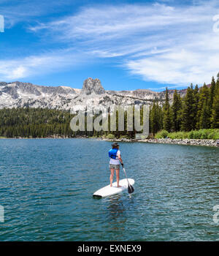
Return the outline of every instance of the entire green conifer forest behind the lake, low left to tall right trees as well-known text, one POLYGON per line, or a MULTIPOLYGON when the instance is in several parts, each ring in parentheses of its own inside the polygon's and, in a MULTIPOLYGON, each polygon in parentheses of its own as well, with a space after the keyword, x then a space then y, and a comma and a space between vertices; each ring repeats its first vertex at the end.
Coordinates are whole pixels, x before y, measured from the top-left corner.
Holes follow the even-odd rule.
MULTIPOLYGON (((110 115, 110 114, 109 114, 110 115)), ((141 124, 143 115, 141 110, 141 124)), ((7 138, 50 138, 77 136, 112 138, 135 138, 136 131, 127 129, 127 113, 124 116, 124 130, 99 131, 95 129, 88 132, 73 132, 70 121, 74 116, 65 110, 51 110, 48 108, 4 108, 0 110, 0 137, 7 138)), ((94 116, 93 118, 96 118, 94 116)), ((109 116, 110 120, 110 116, 109 116)), ((110 122, 109 122, 110 127, 110 122)), ((197 85, 189 86, 185 97, 181 97, 177 90, 174 91, 172 104, 169 91, 166 88, 164 102, 158 99, 150 106, 150 134, 155 135, 162 129, 167 132, 189 132, 199 129, 219 128, 219 73, 217 80, 212 78, 210 86, 204 83, 199 88, 197 85)))

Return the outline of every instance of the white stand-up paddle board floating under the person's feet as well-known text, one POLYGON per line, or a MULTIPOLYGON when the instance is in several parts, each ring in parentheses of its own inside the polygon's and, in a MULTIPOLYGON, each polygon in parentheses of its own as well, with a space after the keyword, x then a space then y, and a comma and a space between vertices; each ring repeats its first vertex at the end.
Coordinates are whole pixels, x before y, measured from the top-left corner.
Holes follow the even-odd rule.
POLYGON ((122 192, 123 190, 128 189, 128 182, 132 186, 134 184, 134 179, 128 178, 128 181, 127 181, 127 179, 124 178, 124 179, 120 180, 121 187, 117 187, 117 182, 115 181, 114 183, 112 183, 112 187, 110 187, 110 185, 108 185, 106 187, 103 187, 103 188, 97 190, 93 194, 93 197, 109 197, 110 195, 118 194, 118 193, 122 192))

